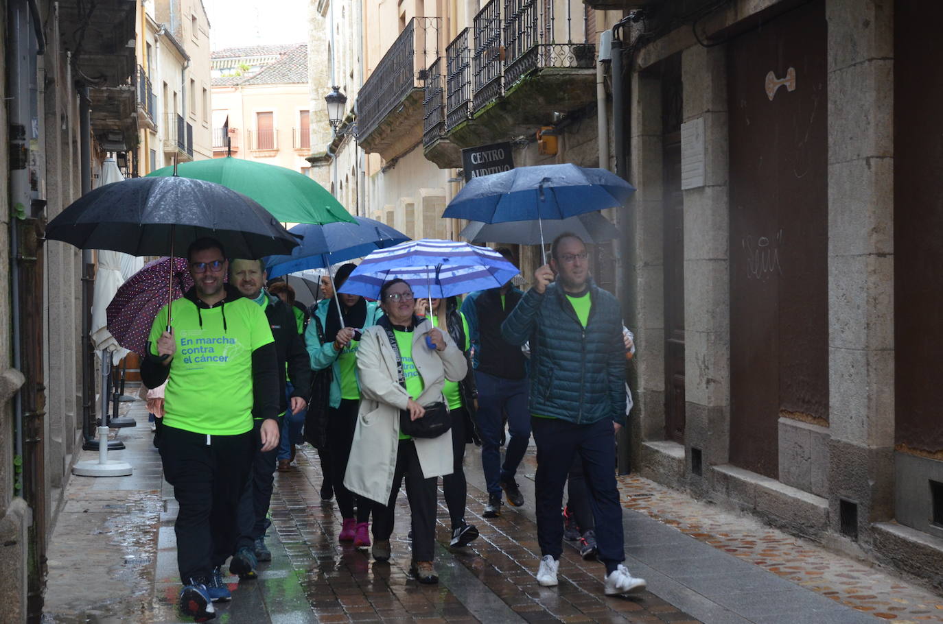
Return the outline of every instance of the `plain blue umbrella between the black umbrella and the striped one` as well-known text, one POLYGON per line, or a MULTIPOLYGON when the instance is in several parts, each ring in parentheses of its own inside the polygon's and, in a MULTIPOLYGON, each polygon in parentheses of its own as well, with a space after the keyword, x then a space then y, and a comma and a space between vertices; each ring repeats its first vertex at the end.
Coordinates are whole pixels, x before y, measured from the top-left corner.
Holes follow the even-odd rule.
POLYGON ((366 217, 354 219, 356 223, 302 223, 292 227, 289 233, 301 237, 301 244, 292 249, 290 255, 270 255, 265 258, 265 270, 269 277, 306 269, 323 269, 409 240, 405 234, 386 223, 366 217))

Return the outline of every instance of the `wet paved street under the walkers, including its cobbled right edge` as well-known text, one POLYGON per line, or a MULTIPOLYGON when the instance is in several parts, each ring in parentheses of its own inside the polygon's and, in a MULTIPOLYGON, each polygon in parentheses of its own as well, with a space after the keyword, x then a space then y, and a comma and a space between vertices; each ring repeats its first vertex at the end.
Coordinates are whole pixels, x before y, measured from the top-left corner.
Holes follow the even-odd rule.
MULTIPOLYGON (((49 550, 44 621, 190 621, 174 610, 173 494, 160 476, 144 403, 123 407, 139 426, 119 430, 127 450, 115 455, 135 473, 72 478, 49 550)), ((442 546, 449 531, 440 499, 438 586, 407 578, 405 496, 389 565, 339 545, 339 513, 320 501, 317 455, 305 446, 298 467, 276 476, 267 538, 273 561, 260 567, 257 581, 227 579, 234 598, 218 605, 215 621, 879 621, 868 613, 902 623, 943 621, 943 599, 910 583, 637 477, 620 479, 626 565, 648 580, 649 592, 605 598, 602 566, 584 562, 572 547, 560 564, 560 585, 540 587, 533 576, 533 448, 518 479, 527 502, 521 510, 505 506, 494 520, 481 517, 487 494, 480 453, 468 449, 468 518, 482 536, 462 552, 442 546)))

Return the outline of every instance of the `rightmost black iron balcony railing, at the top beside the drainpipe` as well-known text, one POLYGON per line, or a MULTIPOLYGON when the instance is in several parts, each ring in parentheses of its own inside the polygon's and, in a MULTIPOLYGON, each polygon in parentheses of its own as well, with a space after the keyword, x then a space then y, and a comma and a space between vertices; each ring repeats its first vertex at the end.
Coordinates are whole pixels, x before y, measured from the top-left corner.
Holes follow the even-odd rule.
POLYGON ((595 48, 586 36, 588 8, 577 18, 583 36, 573 41, 571 11, 558 18, 555 5, 554 0, 505 0, 505 90, 540 68, 592 69, 595 48))

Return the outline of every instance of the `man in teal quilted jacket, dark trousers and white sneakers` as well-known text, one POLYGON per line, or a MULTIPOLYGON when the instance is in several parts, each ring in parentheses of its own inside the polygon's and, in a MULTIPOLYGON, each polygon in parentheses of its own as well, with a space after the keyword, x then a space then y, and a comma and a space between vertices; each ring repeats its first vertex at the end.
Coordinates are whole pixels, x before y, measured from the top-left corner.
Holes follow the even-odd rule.
POLYGON ((537 444, 537 581, 557 584, 563 552, 563 485, 575 457, 583 463, 596 521, 598 556, 607 596, 640 592, 625 561, 622 508, 616 485, 616 432, 625 424, 625 346, 616 298, 589 276, 586 245, 561 234, 549 265, 508 315, 505 339, 530 340, 530 411, 537 444), (555 284, 553 282, 556 282, 555 284))

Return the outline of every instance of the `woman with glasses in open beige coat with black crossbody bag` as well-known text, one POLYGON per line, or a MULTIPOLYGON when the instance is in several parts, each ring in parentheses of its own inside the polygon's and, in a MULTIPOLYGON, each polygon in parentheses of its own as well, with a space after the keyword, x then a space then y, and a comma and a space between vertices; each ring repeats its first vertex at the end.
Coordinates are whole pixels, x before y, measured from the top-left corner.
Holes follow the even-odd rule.
POLYGON ((410 438, 403 418, 422 419, 425 407, 442 402, 446 381, 465 378, 465 355, 448 333, 413 312, 413 293, 405 281, 380 289, 386 316, 360 339, 360 413, 344 485, 372 501, 373 558, 388 561, 389 536, 400 484, 405 477, 412 520, 410 573, 420 583, 438 583, 435 558, 436 483, 451 474, 452 436, 410 438))

